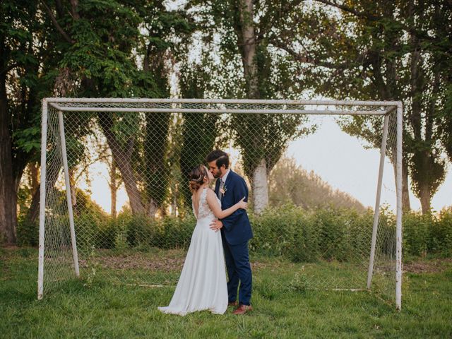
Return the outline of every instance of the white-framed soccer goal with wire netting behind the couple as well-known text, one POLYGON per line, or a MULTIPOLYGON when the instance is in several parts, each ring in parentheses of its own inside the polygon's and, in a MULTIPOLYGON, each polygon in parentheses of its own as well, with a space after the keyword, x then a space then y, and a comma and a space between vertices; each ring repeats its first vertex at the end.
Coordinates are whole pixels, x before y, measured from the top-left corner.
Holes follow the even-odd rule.
MULTIPOLYGON (((249 184, 257 292, 372 290, 400 309, 402 116, 401 102, 42 100, 38 299, 79 277, 174 286, 196 223, 186 177, 222 148, 249 184), (347 158, 347 143, 326 131, 322 142, 345 155, 321 163, 352 174, 364 194, 369 182, 371 203, 334 200, 311 186, 317 177, 284 167, 287 148, 322 126, 362 145, 347 158)), ((327 156, 319 142, 310 150, 327 156)))

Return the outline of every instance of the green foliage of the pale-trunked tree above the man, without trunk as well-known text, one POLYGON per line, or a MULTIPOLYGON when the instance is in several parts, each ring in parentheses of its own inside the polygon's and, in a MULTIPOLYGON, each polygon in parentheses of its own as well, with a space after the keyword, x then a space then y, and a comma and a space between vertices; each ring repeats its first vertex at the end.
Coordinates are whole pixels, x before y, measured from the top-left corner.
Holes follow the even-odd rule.
MULTIPOLYGON (((297 98, 302 88, 294 85, 295 69, 287 57, 269 44, 270 32, 278 32, 279 25, 284 24, 284 13, 281 13, 281 4, 270 4, 266 1, 256 1, 254 13, 261 8, 263 16, 258 23, 244 14, 240 18, 237 1, 211 1, 206 4, 202 1, 189 1, 194 18, 200 21, 198 33, 202 35, 201 59, 212 60, 211 64, 201 64, 211 78, 215 78, 210 89, 210 95, 219 97, 246 97, 249 99, 278 99, 297 98), (265 3, 265 4, 264 4, 265 3), (272 20, 273 16, 282 17, 272 20), (254 37, 250 42, 244 42, 243 25, 253 25, 254 37), (219 43, 215 37, 220 37, 219 43), (212 44, 212 46, 210 46, 212 44), (248 44, 254 44, 256 57, 252 61, 256 71, 249 71, 244 62, 248 53, 248 44), (218 49, 219 60, 213 58, 211 50, 218 49), (219 62, 218 62, 219 61, 219 62), (251 78, 250 78, 251 77, 251 78)), ((287 7, 292 8, 292 4, 287 7)), ((286 8, 284 8, 286 10, 286 8)), ((253 47, 253 48, 254 48, 253 47)), ((250 48, 251 49, 251 48, 250 48)), ((251 67, 251 69, 254 68, 251 67)), ((232 108, 233 105, 231 105, 232 108)), ((261 109, 270 107, 263 105, 261 109)), ((242 155, 244 173, 252 182, 254 171, 265 160, 266 171, 278 162, 287 143, 294 138, 310 133, 311 130, 300 126, 307 119, 296 115, 274 114, 234 114, 227 121, 227 131, 224 133, 234 136, 234 145, 239 148, 242 155), (250 137, 251 136, 251 137, 250 137)), ((224 129, 224 128, 223 128, 224 129)), ((224 129, 225 130, 225 129, 224 129)))

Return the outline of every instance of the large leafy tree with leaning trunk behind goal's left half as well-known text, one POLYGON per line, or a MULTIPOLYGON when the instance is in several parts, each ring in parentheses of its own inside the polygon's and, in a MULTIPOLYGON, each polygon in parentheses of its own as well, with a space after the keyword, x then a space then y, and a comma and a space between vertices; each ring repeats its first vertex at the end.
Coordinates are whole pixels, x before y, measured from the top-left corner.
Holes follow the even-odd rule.
MULTIPOLYGON (((186 30, 179 13, 169 13, 159 1, 131 1, 126 6, 117 1, 56 1, 54 5, 55 9, 45 8, 53 34, 65 40, 58 66, 66 70, 65 83, 71 84, 68 95, 169 95, 166 69, 172 38, 179 28, 186 30)), ((100 113, 97 122, 121 173, 132 212, 154 215, 166 195, 168 114, 148 114, 139 121, 100 113)))

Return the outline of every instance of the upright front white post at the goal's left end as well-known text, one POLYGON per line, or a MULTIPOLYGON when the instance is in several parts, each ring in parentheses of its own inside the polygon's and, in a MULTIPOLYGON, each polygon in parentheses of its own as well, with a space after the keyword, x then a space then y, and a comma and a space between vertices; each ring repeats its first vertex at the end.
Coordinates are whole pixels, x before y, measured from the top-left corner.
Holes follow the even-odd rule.
POLYGON ((40 184, 40 235, 37 264, 37 299, 42 299, 44 290, 44 232, 45 232, 45 184, 46 184, 46 148, 47 148, 47 100, 42 100, 41 123, 41 184, 40 184))

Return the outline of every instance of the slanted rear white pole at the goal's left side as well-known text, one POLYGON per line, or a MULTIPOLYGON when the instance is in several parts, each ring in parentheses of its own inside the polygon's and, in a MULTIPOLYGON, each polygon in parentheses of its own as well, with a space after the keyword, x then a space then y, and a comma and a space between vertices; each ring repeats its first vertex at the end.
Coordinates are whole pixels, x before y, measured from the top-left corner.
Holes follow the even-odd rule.
POLYGON ((74 268, 76 270, 76 277, 78 278, 78 277, 80 277, 80 271, 78 270, 76 230, 73 225, 71 182, 69 182, 69 166, 68 166, 68 157, 67 157, 67 153, 66 153, 66 138, 64 136, 63 112, 61 112, 61 111, 58 111, 58 121, 59 121, 59 136, 60 136, 60 140, 61 140, 61 157, 63 158, 63 166, 64 166, 64 181, 66 182, 66 201, 68 203, 69 226, 71 228, 73 264, 74 264, 74 268))

